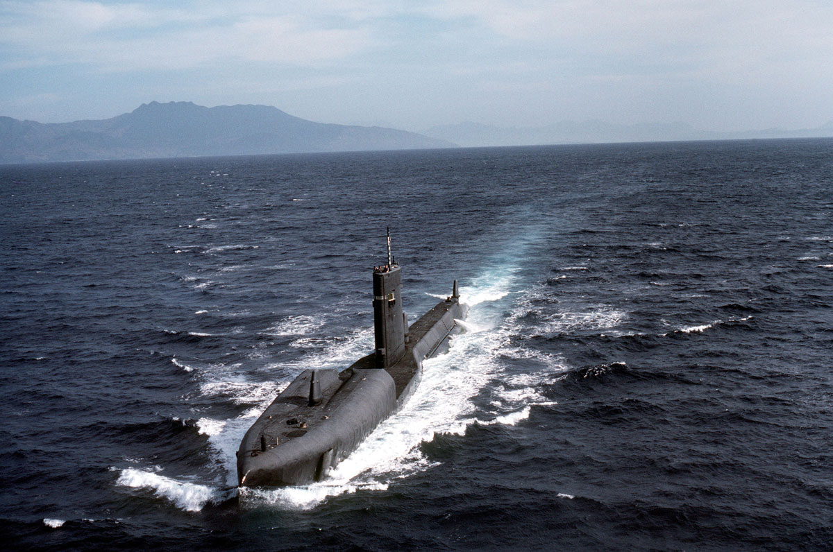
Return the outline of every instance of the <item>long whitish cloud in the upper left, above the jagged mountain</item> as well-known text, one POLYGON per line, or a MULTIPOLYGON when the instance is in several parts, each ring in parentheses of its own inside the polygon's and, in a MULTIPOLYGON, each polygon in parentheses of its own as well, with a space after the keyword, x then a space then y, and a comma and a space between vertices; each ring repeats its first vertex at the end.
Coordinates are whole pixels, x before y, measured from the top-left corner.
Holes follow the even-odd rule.
POLYGON ((190 11, 78 0, 3 2, 0 44, 13 54, 3 56, 2 66, 73 63, 112 72, 232 61, 315 64, 372 43, 367 28, 355 22, 274 15, 274 7, 270 12, 260 2, 243 6, 251 11, 219 3, 190 11))

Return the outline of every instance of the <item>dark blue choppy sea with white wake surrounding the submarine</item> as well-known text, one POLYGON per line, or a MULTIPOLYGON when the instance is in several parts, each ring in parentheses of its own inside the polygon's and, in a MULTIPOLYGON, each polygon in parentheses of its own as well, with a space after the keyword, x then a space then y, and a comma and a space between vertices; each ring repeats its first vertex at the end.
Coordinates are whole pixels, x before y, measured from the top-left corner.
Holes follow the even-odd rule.
POLYGON ((833 140, 0 167, 5 550, 833 550, 833 140), (234 451, 466 332, 315 485, 234 451))

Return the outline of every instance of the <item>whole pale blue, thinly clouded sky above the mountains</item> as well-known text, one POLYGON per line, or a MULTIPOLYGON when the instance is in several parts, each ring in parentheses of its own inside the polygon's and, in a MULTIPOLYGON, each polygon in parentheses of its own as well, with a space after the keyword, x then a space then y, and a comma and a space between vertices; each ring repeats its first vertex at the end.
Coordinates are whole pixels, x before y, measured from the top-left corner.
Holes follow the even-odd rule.
POLYGON ((412 131, 833 120, 833 0, 0 0, 0 116, 264 104, 412 131))

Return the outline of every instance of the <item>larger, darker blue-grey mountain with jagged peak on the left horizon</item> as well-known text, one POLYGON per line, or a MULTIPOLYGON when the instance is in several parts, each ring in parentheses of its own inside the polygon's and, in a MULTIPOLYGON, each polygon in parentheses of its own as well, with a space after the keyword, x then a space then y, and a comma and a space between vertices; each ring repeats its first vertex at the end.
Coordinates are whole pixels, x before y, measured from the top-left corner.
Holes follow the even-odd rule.
POLYGON ((326 124, 277 107, 150 102, 112 119, 43 124, 0 117, 0 163, 455 147, 392 128, 326 124))

